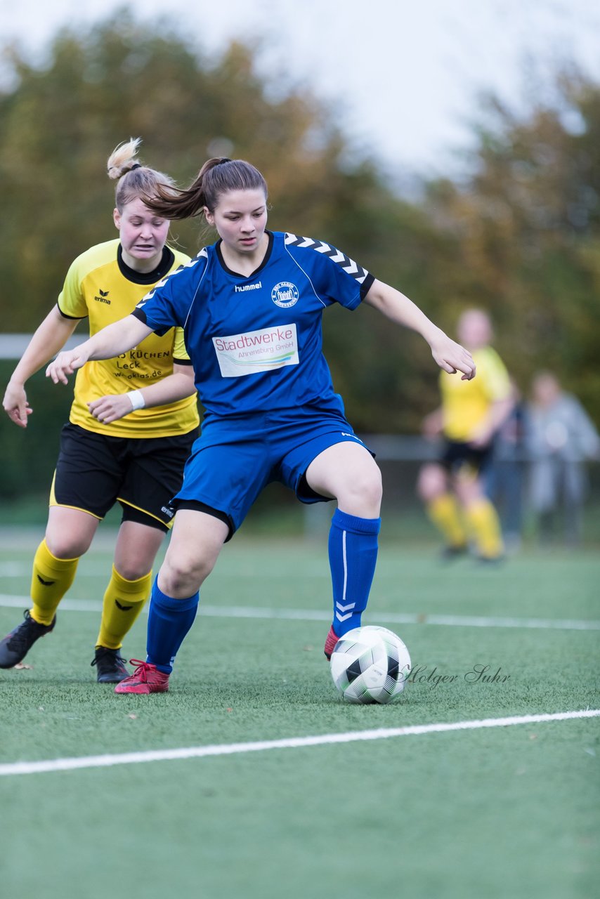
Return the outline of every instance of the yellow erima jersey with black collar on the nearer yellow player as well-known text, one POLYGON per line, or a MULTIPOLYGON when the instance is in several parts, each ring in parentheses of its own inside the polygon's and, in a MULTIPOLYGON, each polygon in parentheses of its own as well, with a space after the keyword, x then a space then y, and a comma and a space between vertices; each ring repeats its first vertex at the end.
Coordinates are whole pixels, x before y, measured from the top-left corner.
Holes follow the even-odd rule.
MULTIPOLYGON (((188 261, 189 256, 166 247, 161 266, 148 275, 123 262, 118 238, 93 246, 77 256, 67 271, 58 309, 67 318, 88 317, 90 335, 96 334, 128 316, 157 281, 188 261)), ((173 374, 174 360, 186 362, 189 358, 183 330, 171 328, 162 337, 148 334, 116 359, 86 362, 77 371, 69 421, 111 437, 171 437, 192 431, 199 423, 195 394, 169 405, 137 409, 110 424, 98 422, 87 408, 101 396, 148 387, 173 374)))

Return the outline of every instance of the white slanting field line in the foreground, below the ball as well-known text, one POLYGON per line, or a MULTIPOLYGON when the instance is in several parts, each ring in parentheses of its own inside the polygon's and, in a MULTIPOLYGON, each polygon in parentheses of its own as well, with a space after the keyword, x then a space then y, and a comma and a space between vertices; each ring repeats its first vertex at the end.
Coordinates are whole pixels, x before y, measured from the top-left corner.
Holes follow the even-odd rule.
POLYGON ((88 755, 46 761, 13 761, 0 765, 0 777, 16 774, 43 774, 49 771, 71 771, 82 768, 110 768, 113 765, 137 765, 144 761, 180 761, 205 759, 211 755, 237 755, 242 752, 264 752, 269 749, 302 749, 332 743, 358 743, 386 740, 398 736, 443 734, 448 731, 479 730, 483 727, 543 724, 548 721, 568 721, 573 718, 592 718, 600 715, 600 708, 578 712, 557 712, 552 715, 520 715, 505 718, 483 718, 479 721, 454 721, 449 724, 408 725, 378 730, 350 731, 346 734, 288 737, 283 740, 260 740, 256 743, 221 743, 214 746, 189 746, 181 749, 157 749, 147 752, 119 752, 111 755, 88 755))

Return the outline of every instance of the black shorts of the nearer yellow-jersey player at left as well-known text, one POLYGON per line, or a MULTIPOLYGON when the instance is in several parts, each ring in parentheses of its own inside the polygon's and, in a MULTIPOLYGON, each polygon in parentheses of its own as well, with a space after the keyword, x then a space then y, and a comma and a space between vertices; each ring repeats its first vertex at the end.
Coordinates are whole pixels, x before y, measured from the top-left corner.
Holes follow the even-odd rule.
POLYGON ((108 437, 68 423, 60 434, 50 505, 103 519, 118 502, 121 521, 166 531, 175 514, 171 500, 197 436, 195 428, 175 437, 108 437))

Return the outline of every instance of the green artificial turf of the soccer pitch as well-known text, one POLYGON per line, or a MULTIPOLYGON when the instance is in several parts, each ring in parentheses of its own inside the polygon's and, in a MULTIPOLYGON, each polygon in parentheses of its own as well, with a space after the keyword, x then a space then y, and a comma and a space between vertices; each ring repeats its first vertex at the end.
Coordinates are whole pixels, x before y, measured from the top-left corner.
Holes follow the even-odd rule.
MULTIPOLYGON (((363 620, 399 633, 418 680, 394 705, 362 707, 339 699, 322 654, 325 547, 241 536, 202 590, 170 692, 115 696, 90 667, 110 537, 67 596, 89 610, 65 601, 31 668, 0 672, 0 763, 600 707, 591 552, 529 551, 489 569, 384 541, 363 620), (417 622, 399 623, 407 615, 417 622), (514 626, 475 627, 478 617, 514 626), (476 665, 497 679, 473 682, 476 665)), ((2 633, 26 606, 6 603, 28 592, 36 539, 15 534, 0 554, 2 633)), ((145 628, 142 615, 129 656, 144 657, 145 628)), ((8 775, 3 895, 587 899, 598 752, 589 718, 8 775)))

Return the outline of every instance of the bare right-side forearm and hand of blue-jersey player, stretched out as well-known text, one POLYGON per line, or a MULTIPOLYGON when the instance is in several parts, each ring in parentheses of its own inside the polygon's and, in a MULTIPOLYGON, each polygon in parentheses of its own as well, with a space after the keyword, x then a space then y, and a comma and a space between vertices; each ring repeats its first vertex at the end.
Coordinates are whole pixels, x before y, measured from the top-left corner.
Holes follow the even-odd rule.
POLYGON ((374 280, 364 302, 378 309, 390 321, 421 334, 431 347, 431 354, 441 369, 450 374, 461 371, 462 380, 475 377, 475 363, 470 352, 444 334, 399 290, 384 284, 383 281, 374 280))

